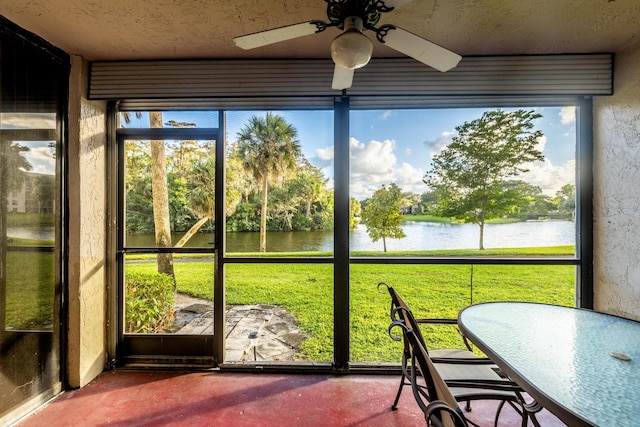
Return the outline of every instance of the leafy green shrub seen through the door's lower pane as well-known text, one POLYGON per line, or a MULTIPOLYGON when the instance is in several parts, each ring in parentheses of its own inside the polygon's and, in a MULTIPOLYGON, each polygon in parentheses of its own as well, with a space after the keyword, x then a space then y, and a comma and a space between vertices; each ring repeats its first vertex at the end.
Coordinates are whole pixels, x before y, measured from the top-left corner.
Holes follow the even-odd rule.
POLYGON ((173 277, 160 273, 127 272, 125 280, 127 332, 164 332, 173 322, 173 277))

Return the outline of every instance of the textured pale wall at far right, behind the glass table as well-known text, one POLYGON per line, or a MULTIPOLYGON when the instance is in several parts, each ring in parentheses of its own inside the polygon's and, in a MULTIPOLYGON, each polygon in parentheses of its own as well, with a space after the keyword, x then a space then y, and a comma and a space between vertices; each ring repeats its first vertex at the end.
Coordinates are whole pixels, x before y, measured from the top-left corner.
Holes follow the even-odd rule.
POLYGON ((640 319, 640 43, 594 100, 595 308, 640 319))

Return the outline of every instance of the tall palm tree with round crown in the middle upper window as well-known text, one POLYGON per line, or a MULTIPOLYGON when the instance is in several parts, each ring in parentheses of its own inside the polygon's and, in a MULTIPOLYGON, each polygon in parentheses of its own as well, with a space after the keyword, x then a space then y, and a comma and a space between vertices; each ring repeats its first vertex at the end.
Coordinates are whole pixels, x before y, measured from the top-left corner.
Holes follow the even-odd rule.
POLYGON ((267 250, 267 195, 269 184, 296 167, 301 155, 296 129, 277 114, 252 116, 238 132, 238 155, 262 189, 260 252, 267 250))

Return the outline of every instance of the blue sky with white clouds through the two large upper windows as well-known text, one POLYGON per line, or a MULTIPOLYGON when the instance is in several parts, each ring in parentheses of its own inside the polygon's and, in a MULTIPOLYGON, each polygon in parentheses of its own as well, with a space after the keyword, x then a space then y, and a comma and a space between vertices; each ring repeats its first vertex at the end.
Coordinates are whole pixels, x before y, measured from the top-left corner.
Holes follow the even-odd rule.
MULTIPOLYGON (((505 109, 508 110, 508 109, 505 109)), ((549 195, 565 184, 575 183, 575 109, 536 108, 542 118, 536 128, 544 137, 539 148, 544 162, 529 165, 523 177, 549 195)), ((351 194, 369 197, 383 184, 395 182, 404 191, 428 190, 422 177, 432 156, 442 151, 455 135, 456 126, 480 118, 485 109, 366 110, 352 111, 350 125, 351 194)), ((298 130, 303 153, 325 176, 333 178, 333 112, 277 111, 298 130)), ((227 135, 234 140, 253 114, 228 112, 227 135)))

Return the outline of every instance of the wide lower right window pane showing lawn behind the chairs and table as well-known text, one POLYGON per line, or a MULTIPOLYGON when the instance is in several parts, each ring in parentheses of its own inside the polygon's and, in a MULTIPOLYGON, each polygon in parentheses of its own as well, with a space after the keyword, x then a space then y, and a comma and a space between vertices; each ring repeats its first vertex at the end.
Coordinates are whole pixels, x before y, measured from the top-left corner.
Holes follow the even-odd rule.
MULTIPOLYGON (((458 318, 464 307, 487 301, 531 301, 574 306, 572 265, 351 265, 351 359, 399 362, 401 343, 388 334, 391 298, 385 281, 416 318, 458 318)), ((455 325, 422 325, 430 349, 464 349, 455 325)), ((399 332, 399 331, 398 331, 399 332)))

